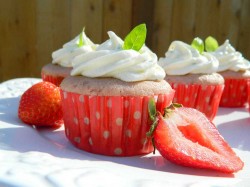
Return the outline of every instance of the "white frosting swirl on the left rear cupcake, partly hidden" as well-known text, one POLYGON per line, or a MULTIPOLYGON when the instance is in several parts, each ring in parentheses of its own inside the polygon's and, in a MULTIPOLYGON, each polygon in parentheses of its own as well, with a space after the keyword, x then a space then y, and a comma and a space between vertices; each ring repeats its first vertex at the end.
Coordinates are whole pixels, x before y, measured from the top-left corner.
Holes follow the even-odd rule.
POLYGON ((84 54, 95 50, 96 44, 94 44, 82 31, 83 46, 78 47, 80 40, 80 34, 73 40, 63 45, 63 48, 58 49, 52 53, 52 63, 58 64, 63 67, 72 67, 72 59, 80 54, 84 54))

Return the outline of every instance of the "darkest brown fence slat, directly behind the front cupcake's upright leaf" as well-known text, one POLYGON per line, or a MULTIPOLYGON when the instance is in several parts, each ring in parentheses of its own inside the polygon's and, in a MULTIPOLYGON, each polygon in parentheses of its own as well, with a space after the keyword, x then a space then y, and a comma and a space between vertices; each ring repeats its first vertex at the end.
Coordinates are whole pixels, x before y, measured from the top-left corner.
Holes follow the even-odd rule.
POLYGON ((154 1, 134 0, 132 11, 133 11, 132 27, 135 27, 136 25, 141 23, 146 23, 147 25, 146 45, 149 48, 151 48, 153 39, 154 1))

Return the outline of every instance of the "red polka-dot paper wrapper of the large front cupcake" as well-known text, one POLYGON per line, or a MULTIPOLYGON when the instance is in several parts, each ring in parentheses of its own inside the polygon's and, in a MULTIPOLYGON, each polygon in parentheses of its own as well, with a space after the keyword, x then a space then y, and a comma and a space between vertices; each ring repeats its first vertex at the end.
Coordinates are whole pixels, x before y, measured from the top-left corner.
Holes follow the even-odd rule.
MULTIPOLYGON (((155 96, 157 109, 172 102, 171 94, 155 96)), ((61 90, 65 133, 76 147, 96 154, 133 156, 152 152, 146 133, 150 97, 87 96, 61 90)))

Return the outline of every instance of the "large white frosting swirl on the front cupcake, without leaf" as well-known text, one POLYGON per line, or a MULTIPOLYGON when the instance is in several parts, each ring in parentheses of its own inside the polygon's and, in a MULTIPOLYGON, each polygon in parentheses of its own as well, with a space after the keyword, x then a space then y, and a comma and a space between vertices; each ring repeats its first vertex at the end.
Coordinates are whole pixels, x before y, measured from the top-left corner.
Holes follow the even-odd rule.
POLYGON ((79 55, 72 61, 71 75, 113 77, 126 82, 162 80, 164 70, 157 64, 157 56, 146 46, 141 50, 123 50, 123 40, 109 31, 109 40, 96 51, 79 55))

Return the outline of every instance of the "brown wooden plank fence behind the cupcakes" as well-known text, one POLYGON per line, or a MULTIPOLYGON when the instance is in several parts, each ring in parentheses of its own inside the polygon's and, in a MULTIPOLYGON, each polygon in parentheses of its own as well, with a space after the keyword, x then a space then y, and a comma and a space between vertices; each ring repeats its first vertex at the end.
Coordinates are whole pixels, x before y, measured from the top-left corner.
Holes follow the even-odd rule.
POLYGON ((96 43, 145 22, 146 44, 160 57, 173 40, 229 39, 250 59, 249 0, 0 0, 0 82, 40 77, 51 53, 85 26, 96 43))

